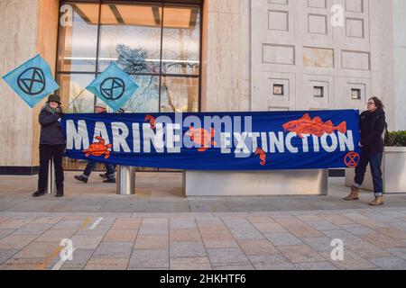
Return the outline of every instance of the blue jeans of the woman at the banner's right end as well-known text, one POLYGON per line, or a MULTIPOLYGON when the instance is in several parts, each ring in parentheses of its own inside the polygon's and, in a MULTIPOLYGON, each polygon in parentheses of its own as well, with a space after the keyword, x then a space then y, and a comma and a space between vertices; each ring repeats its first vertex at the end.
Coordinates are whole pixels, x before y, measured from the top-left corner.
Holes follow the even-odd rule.
POLYGON ((364 182, 366 166, 371 166, 371 175, 374 181, 374 195, 380 197, 383 195, 383 178, 382 178, 382 153, 371 153, 365 149, 361 152, 361 158, 358 166, 355 168, 355 186, 360 187, 364 182))

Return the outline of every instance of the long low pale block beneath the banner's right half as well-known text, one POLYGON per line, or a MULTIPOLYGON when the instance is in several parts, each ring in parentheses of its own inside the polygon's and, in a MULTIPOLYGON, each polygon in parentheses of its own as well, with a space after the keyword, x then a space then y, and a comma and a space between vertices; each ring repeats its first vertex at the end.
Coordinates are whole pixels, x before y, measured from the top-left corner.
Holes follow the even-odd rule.
POLYGON ((189 196, 327 195, 328 170, 185 171, 189 196))

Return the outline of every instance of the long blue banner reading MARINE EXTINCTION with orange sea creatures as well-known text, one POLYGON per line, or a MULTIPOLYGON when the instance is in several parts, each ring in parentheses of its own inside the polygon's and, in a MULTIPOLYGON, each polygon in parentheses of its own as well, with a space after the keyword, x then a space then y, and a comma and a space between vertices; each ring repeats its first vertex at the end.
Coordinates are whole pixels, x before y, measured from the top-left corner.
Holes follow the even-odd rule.
POLYGON ((355 167, 359 112, 65 114, 71 158, 182 170, 355 167))

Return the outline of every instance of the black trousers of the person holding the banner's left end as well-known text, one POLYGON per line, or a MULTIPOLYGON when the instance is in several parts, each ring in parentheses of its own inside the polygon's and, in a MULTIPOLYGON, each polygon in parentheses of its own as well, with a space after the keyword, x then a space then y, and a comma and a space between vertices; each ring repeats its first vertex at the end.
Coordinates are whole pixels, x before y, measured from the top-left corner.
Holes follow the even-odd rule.
POLYGON ((40 145, 40 175, 38 177, 38 190, 45 192, 48 184, 48 171, 50 160, 53 159, 55 166, 55 178, 57 190, 63 190, 63 166, 62 158, 65 145, 40 145))

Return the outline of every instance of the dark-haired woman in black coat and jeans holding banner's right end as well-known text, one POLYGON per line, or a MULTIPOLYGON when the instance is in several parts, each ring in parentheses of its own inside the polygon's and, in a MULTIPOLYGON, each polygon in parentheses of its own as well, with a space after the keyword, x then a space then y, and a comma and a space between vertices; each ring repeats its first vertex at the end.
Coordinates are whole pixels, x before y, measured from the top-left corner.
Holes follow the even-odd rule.
POLYGON ((368 100, 368 110, 360 115, 359 129, 361 133, 360 146, 362 148, 358 166, 355 168, 355 184, 351 187, 351 193, 345 198, 346 201, 359 199, 359 188, 364 182, 364 175, 368 164, 371 166, 371 174, 374 181, 375 200, 372 206, 383 205, 383 132, 386 127, 384 106, 380 99, 373 97, 368 100))

